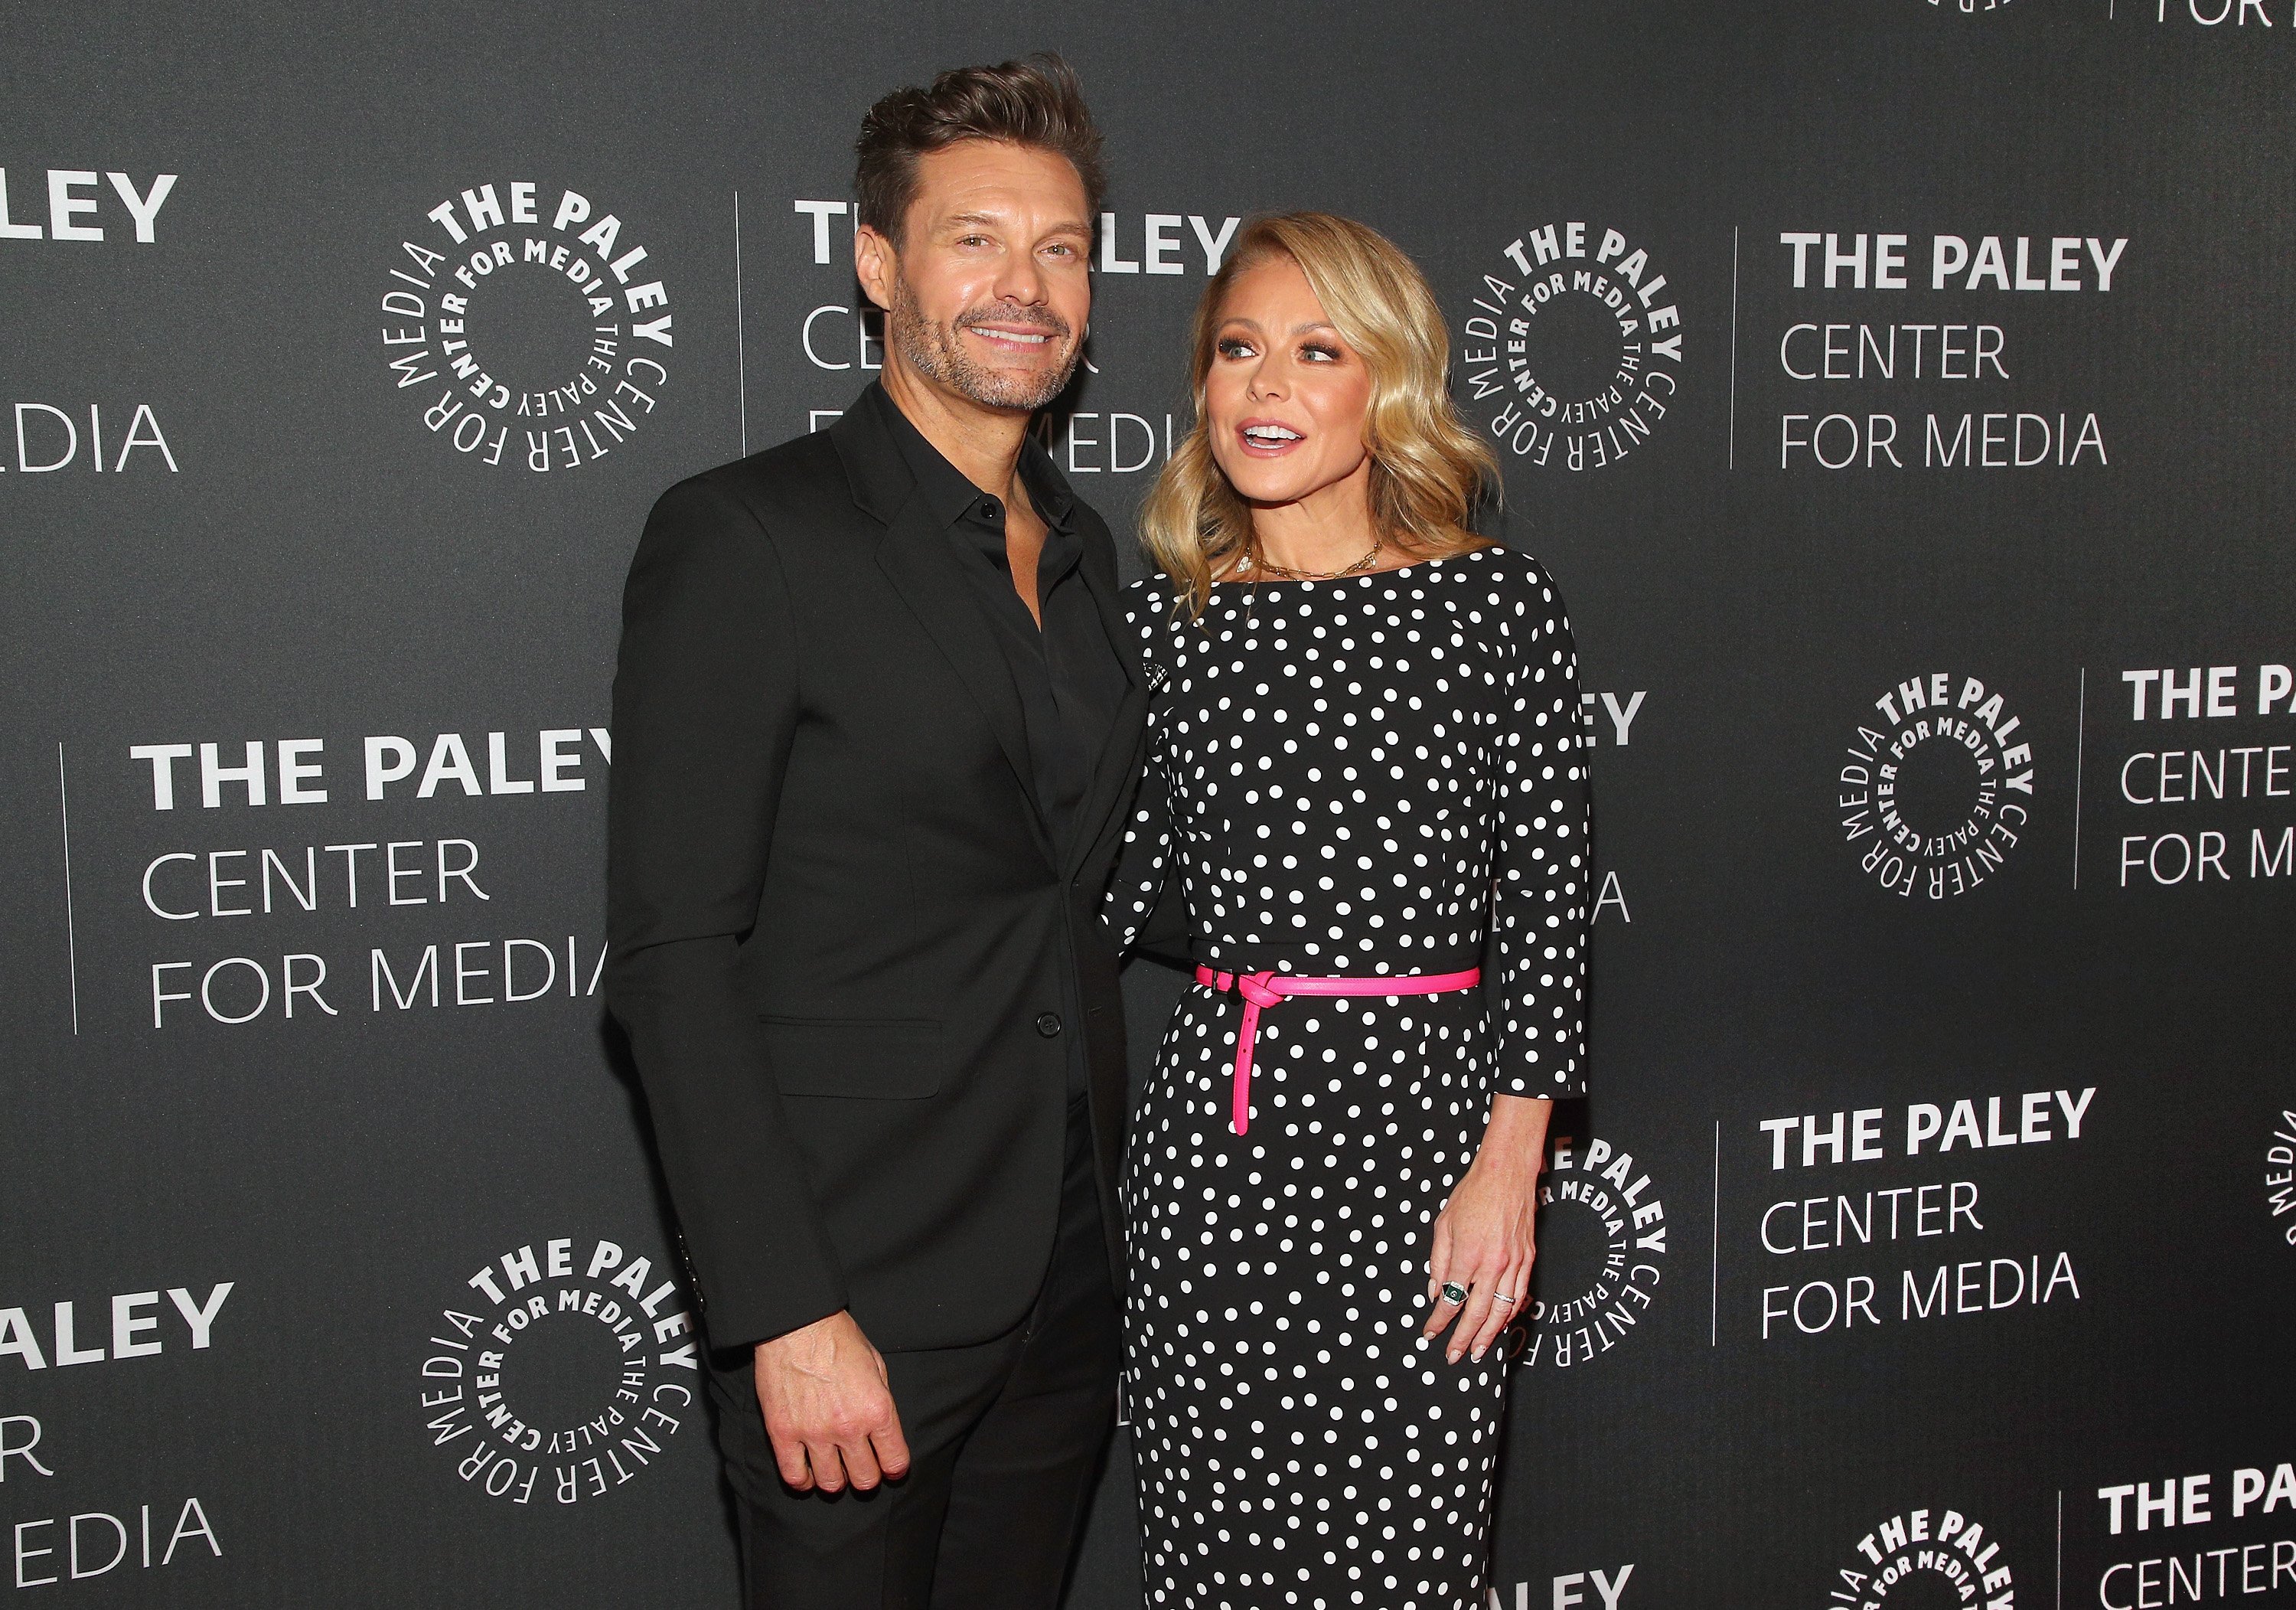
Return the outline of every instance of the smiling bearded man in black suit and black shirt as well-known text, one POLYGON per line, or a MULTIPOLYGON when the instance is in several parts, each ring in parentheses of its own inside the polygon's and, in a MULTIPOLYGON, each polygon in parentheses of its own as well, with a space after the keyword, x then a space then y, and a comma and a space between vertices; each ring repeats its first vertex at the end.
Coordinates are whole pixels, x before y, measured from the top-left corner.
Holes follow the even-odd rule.
POLYGON ((751 1605, 1049 1610, 1114 1422, 1097 905, 1146 678, 1029 436, 1091 315, 1097 152, 1058 57, 870 108, 882 384, 673 487, 629 572, 606 994, 751 1605))

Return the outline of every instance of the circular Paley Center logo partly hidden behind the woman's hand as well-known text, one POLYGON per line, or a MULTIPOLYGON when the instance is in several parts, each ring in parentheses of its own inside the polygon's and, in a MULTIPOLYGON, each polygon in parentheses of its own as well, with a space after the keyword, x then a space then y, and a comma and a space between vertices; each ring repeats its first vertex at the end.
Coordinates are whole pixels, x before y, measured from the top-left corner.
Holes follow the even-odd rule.
POLYGON ((1667 1263, 1667 1208, 1635 1153, 1607 1139, 1548 1146, 1531 1307, 1506 1332, 1522 1367, 1570 1369, 1635 1334, 1667 1263))

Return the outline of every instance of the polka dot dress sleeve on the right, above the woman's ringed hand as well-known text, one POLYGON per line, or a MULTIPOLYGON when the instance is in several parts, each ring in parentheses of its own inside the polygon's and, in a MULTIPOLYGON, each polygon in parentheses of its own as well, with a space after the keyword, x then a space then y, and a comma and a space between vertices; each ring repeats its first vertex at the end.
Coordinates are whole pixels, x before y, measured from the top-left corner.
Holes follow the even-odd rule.
POLYGON ((1525 565, 1492 749, 1492 1089, 1584 1096, 1593 854, 1577 648, 1552 576, 1525 565))

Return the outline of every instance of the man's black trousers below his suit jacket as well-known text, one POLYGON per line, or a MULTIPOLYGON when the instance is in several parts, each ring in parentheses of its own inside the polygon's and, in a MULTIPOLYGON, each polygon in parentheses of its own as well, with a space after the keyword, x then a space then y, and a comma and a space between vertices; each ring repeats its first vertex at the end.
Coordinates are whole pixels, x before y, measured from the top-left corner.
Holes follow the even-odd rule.
POLYGON ((969 1348, 886 1353, 909 1474, 792 1493, 748 1355, 709 1369, 742 1520, 748 1610, 1056 1610, 1116 1422, 1123 1337, 1084 1102, 1068 1112, 1061 1226, 1035 1309, 969 1348))

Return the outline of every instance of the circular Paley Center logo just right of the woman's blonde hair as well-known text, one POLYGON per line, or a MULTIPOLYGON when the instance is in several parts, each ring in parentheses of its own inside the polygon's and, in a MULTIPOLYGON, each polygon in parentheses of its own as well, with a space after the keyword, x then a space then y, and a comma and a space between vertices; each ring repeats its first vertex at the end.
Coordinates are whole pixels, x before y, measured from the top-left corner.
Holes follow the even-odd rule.
POLYGON ((1683 319, 1644 246, 1607 225, 1543 223, 1499 248, 1467 299, 1460 402, 1504 457, 1603 469, 1662 429, 1683 319))

